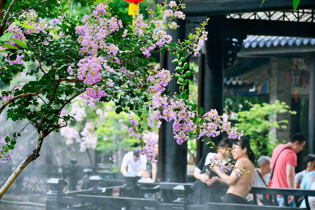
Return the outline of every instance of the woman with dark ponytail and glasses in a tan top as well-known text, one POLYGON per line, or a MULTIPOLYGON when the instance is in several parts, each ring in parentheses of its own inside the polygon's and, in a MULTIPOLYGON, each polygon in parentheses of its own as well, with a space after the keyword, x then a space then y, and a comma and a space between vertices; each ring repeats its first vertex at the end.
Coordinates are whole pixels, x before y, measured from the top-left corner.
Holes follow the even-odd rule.
POLYGON ((229 189, 223 198, 223 203, 239 203, 248 204, 246 196, 248 195, 255 178, 255 154, 250 149, 249 141, 247 139, 235 140, 233 144, 233 158, 236 160, 235 166, 239 170, 243 168, 249 171, 247 175, 238 176, 235 171, 231 175, 221 173, 218 167, 214 167, 213 171, 218 174, 221 181, 229 185, 229 189))

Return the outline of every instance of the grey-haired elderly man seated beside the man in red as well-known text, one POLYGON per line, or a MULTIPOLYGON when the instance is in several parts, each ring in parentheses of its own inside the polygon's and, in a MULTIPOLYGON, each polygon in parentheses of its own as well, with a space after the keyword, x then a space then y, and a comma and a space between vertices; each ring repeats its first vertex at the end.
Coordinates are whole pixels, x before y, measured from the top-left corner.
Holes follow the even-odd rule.
MULTIPOLYGON (((259 168, 255 169, 255 179, 252 187, 267 187, 268 182, 270 180, 270 172, 271 172, 271 167, 270 167, 270 162, 271 158, 267 156, 261 156, 258 161, 257 165, 259 168)), ((247 197, 247 201, 252 201, 254 202, 254 196, 253 194, 249 194, 247 197)), ((263 195, 257 194, 257 203, 258 205, 262 206, 266 201, 263 200, 263 195)))

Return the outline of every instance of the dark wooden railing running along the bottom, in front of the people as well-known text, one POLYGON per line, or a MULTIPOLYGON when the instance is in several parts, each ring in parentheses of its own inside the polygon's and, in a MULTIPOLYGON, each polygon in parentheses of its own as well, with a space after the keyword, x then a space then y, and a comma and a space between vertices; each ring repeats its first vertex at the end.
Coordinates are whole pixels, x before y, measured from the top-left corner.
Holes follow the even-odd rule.
MULTIPOLYGON (((191 183, 168 183, 159 182, 152 184, 120 185, 112 187, 93 187, 89 190, 62 192, 63 181, 54 179, 50 181, 51 190, 47 193, 47 210, 65 209, 121 209, 127 207, 132 209, 152 207, 156 210, 281 210, 281 209, 301 209, 299 207, 278 207, 278 206, 258 206, 224 203, 206 203, 204 205, 191 205, 188 195, 192 189, 191 183), (113 192, 119 189, 120 197, 114 197, 113 192), (157 193, 156 198, 144 198, 145 194, 157 193), (171 196, 169 196, 171 195, 171 196), (175 197, 175 200, 172 200, 175 197)), ((283 195, 285 198, 293 196, 315 196, 315 190, 299 189, 275 189, 275 188, 252 188, 250 193, 283 195)), ((307 200, 307 199, 306 199, 307 200)), ((274 205, 277 205, 275 203, 274 205)), ((286 203, 287 205, 287 203, 286 203)), ((309 206, 307 205, 307 209, 309 206)))

